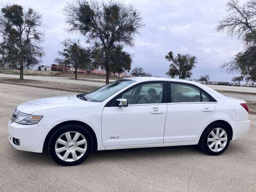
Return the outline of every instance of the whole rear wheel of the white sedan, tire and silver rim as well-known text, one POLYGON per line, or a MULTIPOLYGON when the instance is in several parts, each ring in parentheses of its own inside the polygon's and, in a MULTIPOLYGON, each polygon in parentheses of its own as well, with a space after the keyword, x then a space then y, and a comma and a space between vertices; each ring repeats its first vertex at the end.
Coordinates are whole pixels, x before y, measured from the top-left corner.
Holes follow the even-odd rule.
POLYGON ((214 123, 206 127, 198 145, 206 154, 220 155, 228 148, 230 137, 226 125, 214 123))

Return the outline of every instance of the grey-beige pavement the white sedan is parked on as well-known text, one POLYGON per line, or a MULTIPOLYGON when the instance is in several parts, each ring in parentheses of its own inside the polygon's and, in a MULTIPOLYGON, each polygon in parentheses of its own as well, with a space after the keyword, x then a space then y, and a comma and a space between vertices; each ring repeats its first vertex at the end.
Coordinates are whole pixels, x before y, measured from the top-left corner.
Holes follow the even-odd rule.
POLYGON ((14 149, 7 122, 19 103, 74 93, 1 83, 0 90, 0 191, 255 191, 256 115, 220 156, 196 146, 106 150, 65 167, 46 151, 14 149))

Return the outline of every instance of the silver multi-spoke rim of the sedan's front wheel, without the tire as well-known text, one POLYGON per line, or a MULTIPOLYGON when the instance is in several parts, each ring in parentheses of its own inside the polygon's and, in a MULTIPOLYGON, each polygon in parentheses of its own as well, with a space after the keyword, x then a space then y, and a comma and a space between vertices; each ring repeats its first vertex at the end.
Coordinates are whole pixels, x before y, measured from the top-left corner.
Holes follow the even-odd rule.
POLYGON ((60 135, 55 142, 55 153, 66 162, 81 158, 87 149, 87 141, 82 133, 68 131, 60 135))

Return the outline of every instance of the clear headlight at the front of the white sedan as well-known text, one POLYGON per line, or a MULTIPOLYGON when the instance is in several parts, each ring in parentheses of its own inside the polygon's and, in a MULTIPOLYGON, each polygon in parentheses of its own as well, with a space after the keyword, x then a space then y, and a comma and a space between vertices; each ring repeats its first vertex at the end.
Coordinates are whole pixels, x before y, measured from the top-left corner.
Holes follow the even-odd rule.
POLYGON ((28 115, 23 114, 17 109, 15 109, 13 115, 12 115, 12 122, 20 123, 20 124, 26 124, 26 125, 33 125, 37 124, 43 116, 41 115, 28 115))

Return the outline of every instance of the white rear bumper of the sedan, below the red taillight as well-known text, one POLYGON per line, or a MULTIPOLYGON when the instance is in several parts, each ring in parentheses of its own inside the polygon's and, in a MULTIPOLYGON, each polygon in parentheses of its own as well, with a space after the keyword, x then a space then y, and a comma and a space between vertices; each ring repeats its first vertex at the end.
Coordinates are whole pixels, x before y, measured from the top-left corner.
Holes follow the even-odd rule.
POLYGON ((250 120, 233 122, 233 138, 232 140, 243 137, 250 129, 250 120))

